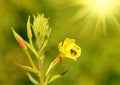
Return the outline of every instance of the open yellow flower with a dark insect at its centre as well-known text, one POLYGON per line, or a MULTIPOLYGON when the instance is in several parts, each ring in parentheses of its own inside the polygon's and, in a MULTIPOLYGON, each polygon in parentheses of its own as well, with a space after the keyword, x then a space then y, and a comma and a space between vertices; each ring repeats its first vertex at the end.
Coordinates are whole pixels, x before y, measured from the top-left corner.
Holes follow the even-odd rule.
POLYGON ((75 44, 74 39, 66 38, 64 43, 59 43, 58 49, 60 51, 60 56, 67 57, 73 60, 77 60, 81 55, 81 48, 75 44))

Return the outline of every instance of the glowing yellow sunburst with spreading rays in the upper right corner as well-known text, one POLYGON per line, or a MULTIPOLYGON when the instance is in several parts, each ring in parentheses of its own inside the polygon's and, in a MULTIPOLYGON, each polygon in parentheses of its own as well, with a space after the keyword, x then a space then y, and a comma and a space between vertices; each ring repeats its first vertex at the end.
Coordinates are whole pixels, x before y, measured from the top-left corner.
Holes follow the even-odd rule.
MULTIPOLYGON (((77 0, 76 5, 80 5, 81 8, 71 18, 71 21, 80 21, 80 27, 82 27, 80 36, 88 31, 94 32, 94 39, 98 34, 106 36, 109 24, 111 24, 109 29, 113 29, 115 26, 116 29, 120 28, 120 22, 116 18, 116 15, 120 17, 119 0, 77 0)), ((118 30, 120 31, 120 29, 118 30)))

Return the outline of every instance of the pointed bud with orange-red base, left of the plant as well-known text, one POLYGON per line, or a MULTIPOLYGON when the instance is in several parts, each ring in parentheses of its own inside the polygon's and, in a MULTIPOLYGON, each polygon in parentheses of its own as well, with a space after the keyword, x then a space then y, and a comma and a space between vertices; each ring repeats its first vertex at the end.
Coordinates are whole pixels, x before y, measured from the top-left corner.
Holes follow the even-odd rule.
POLYGON ((14 34, 15 39, 23 50, 27 50, 27 46, 20 35, 18 35, 13 28, 11 28, 14 34))

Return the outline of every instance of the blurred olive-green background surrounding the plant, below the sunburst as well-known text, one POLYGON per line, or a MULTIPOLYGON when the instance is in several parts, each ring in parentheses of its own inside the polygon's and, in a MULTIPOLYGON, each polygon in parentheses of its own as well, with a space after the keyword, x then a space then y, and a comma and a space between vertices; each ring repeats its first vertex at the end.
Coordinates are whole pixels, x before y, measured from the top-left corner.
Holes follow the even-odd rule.
POLYGON ((120 7, 116 9, 115 19, 108 16, 104 25, 98 23, 95 27, 97 18, 94 15, 88 17, 89 13, 74 19, 75 14, 84 7, 71 5, 75 1, 0 0, 0 85, 32 85, 26 71, 14 64, 27 65, 28 61, 10 28, 14 27, 28 40, 27 18, 36 13, 44 13, 45 17, 50 18, 52 27, 45 51, 46 65, 57 56, 57 45, 66 37, 76 39, 82 49, 77 62, 64 59, 63 65, 58 65, 55 73, 65 69, 69 71, 50 85, 120 85, 120 7), (106 29, 105 33, 102 28, 106 29))

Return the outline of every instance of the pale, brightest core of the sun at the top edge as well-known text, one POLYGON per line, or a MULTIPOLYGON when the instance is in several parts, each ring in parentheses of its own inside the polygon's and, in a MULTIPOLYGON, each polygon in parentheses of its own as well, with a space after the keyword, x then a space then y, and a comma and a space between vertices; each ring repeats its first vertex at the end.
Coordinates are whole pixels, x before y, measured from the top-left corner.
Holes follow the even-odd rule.
POLYGON ((87 0, 86 5, 97 14, 108 14, 115 8, 115 0, 87 0))

